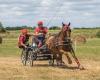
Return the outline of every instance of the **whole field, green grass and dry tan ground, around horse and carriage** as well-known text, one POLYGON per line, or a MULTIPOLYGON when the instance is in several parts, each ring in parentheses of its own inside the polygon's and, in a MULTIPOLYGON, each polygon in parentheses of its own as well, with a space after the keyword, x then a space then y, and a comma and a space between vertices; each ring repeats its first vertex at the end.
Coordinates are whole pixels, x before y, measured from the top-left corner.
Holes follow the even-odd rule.
MULTIPOLYGON (((97 29, 73 30, 72 34, 91 37, 97 31, 97 29)), ((76 55, 86 68, 80 71, 76 69, 74 61, 72 65, 68 64, 68 67, 50 67, 47 61, 35 62, 34 67, 22 66, 21 50, 17 47, 18 35, 19 31, 2 35, 4 38, 3 44, 0 44, 0 80, 100 80, 99 38, 88 38, 86 44, 76 45, 76 55)))

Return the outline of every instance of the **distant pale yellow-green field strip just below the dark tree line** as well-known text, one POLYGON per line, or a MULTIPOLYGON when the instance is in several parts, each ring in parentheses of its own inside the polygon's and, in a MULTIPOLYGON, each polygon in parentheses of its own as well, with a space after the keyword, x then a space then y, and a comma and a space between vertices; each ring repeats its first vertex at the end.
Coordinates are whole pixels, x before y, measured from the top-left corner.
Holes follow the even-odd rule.
MULTIPOLYGON (((75 35, 84 35, 87 38, 91 38, 91 37, 96 37, 96 33, 99 31, 100 29, 72 29, 72 36, 75 35)), ((8 31, 9 34, 0 34, 1 36, 4 37, 8 37, 8 38, 17 38, 20 30, 13 30, 13 31, 8 31)), ((29 30, 30 33, 33 33, 34 30, 29 30)), ((59 30, 49 30, 49 33, 58 33, 59 30)))

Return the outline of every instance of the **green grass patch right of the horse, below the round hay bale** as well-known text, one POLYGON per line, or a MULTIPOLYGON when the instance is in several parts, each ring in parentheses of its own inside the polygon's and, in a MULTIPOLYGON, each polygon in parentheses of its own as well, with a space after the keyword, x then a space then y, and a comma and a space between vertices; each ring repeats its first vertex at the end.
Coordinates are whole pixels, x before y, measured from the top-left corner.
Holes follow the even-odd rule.
POLYGON ((100 39, 88 39, 86 44, 77 44, 76 54, 81 58, 100 60, 100 39))

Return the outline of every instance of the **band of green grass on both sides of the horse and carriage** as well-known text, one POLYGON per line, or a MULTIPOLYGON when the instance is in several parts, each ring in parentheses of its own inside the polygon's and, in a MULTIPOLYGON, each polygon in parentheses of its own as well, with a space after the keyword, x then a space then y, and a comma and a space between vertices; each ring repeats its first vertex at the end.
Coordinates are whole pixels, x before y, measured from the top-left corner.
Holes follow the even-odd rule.
MULTIPOLYGON (((21 50, 17 46, 17 38, 5 38, 0 45, 0 56, 20 56, 21 50)), ((77 44, 76 55, 80 58, 98 60, 100 58, 100 39, 88 39, 86 44, 77 44)))

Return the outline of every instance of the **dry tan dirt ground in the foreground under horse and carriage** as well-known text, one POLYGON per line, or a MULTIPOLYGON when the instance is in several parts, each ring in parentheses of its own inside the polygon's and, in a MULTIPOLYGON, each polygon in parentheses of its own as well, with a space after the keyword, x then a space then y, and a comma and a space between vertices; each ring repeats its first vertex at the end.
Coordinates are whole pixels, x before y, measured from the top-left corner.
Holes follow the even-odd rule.
MULTIPOLYGON (((50 67, 47 62, 23 66, 18 57, 0 57, 0 80, 100 80, 100 61, 81 60, 86 70, 50 67)), ((74 65, 75 66, 75 65, 74 65)))

